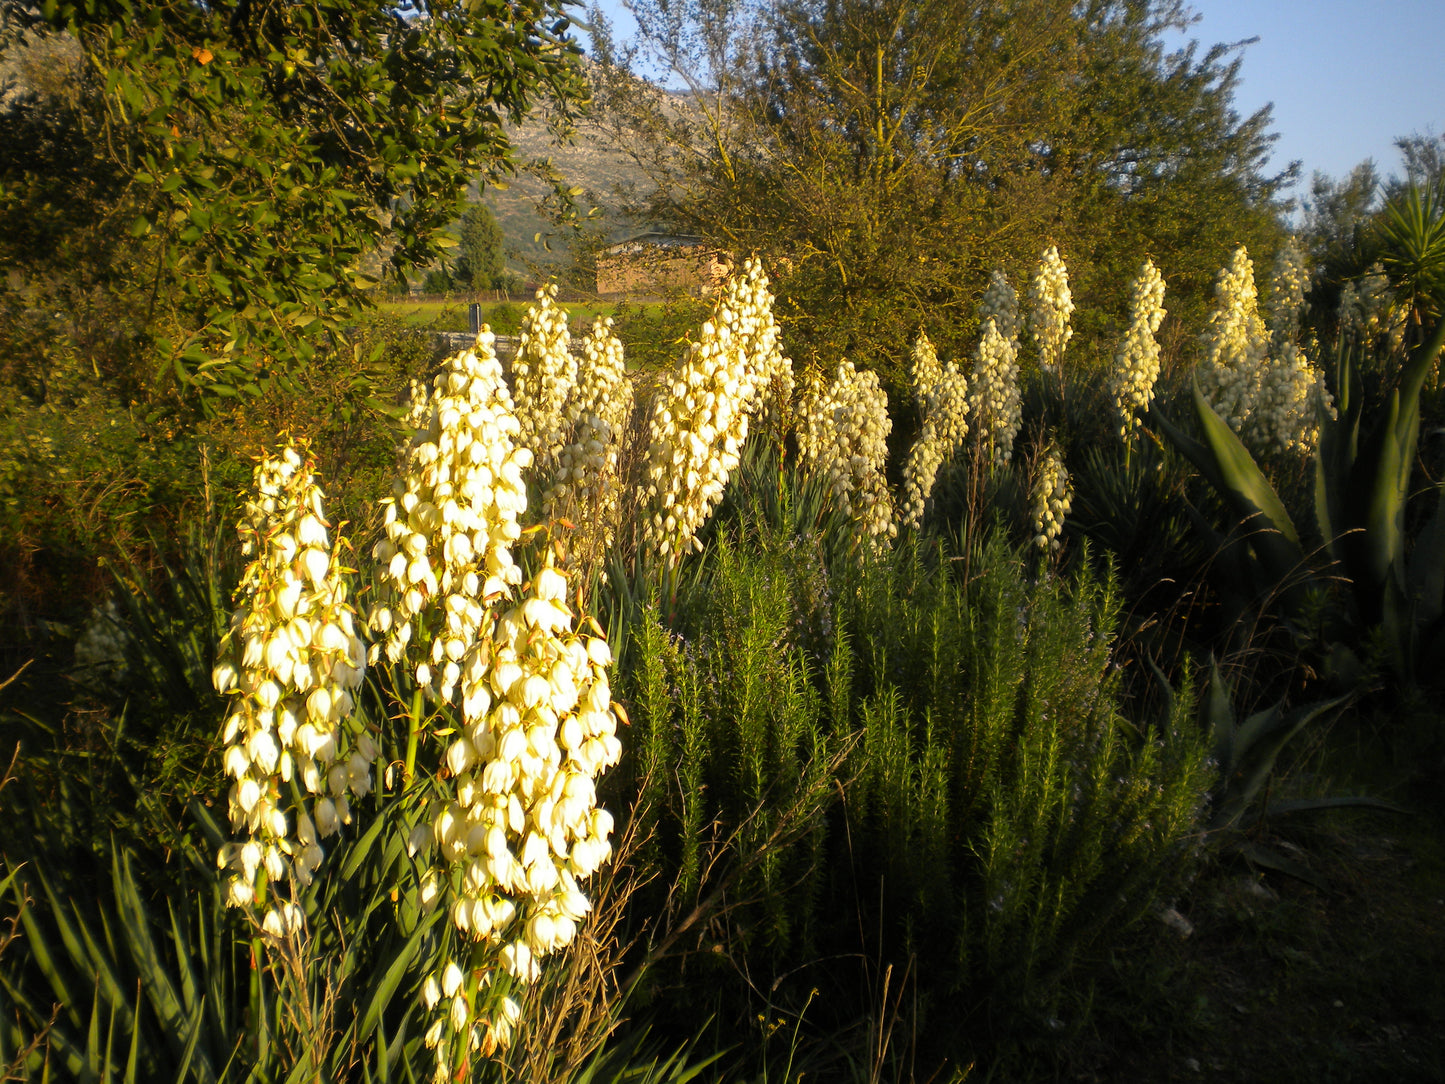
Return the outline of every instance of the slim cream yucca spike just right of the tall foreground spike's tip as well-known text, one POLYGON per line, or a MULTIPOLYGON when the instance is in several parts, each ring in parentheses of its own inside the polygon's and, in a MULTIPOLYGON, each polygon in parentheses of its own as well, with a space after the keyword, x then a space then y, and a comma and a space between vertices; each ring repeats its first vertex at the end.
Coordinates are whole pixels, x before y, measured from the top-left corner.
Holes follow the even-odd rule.
POLYGON ((517 335, 517 354, 512 360, 512 397, 520 444, 551 474, 553 460, 566 438, 562 408, 577 383, 577 358, 569 351, 572 337, 566 328, 566 309, 556 304, 556 283, 549 282, 527 305, 517 335))

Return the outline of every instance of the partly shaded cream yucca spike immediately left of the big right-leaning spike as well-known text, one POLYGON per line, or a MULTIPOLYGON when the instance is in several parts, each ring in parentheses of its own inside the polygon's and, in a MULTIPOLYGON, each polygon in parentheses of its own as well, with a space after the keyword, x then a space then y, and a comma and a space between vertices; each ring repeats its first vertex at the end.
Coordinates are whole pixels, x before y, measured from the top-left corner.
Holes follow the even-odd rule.
POLYGON ((582 338, 577 389, 566 400, 569 438, 556 461, 552 486, 542 497, 542 517, 582 516, 590 542, 613 541, 617 516, 617 457, 631 418, 633 386, 623 344, 610 317, 592 321, 582 338))

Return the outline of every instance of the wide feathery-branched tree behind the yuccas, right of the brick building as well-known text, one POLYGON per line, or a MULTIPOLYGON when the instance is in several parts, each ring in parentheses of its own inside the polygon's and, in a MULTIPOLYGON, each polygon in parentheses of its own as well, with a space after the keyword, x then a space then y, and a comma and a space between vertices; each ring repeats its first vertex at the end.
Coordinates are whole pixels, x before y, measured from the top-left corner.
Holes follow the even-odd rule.
POLYGON ((961 354, 988 272, 1023 282, 1049 243, 1097 275, 1085 306, 1117 309, 1077 315, 1103 335, 1144 256, 1202 312, 1231 246, 1279 236, 1270 113, 1234 113, 1235 46, 1165 48, 1189 25, 1175 0, 629 9, 639 38, 603 27, 592 78, 652 182, 637 202, 772 256, 798 357, 848 354, 900 389, 920 325, 961 354))

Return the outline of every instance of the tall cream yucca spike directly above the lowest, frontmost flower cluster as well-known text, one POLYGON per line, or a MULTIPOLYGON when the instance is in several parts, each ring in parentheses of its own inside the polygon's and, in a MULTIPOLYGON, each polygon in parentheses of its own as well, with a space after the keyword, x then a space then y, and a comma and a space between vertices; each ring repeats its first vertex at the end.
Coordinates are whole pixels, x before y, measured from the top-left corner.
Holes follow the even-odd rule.
POLYGON ((399 662, 420 655, 418 687, 449 700, 474 652, 484 610, 522 581, 512 543, 526 509, 522 471, 532 452, 516 445, 517 419, 490 328, 475 348, 447 358, 422 422, 403 454, 402 477, 383 502, 386 536, 377 562, 371 645, 399 662))

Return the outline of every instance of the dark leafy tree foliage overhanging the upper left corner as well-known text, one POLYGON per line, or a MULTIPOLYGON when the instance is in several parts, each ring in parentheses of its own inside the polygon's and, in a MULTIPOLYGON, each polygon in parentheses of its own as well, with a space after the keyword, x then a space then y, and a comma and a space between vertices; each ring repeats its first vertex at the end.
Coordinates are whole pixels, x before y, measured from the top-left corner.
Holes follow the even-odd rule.
POLYGON ((126 395, 285 380, 377 279, 436 262, 465 186, 516 168, 509 123, 565 126, 587 91, 559 0, 0 9, 0 55, 68 58, 0 108, 3 330, 126 395))

